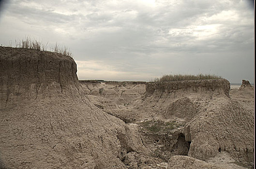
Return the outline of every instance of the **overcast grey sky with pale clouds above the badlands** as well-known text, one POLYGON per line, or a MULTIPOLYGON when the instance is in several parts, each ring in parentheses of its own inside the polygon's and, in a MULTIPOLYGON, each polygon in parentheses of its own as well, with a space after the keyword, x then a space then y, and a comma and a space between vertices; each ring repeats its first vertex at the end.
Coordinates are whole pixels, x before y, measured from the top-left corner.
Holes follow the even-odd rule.
POLYGON ((79 80, 215 74, 254 84, 254 0, 0 0, 0 45, 66 46, 79 80))

